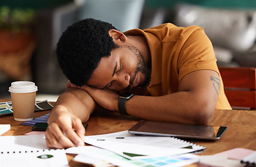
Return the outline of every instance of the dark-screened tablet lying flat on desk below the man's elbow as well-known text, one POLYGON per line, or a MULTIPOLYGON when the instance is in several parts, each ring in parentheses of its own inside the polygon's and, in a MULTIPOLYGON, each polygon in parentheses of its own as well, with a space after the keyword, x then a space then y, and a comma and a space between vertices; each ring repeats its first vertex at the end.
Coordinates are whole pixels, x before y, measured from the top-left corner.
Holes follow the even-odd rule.
POLYGON ((178 138, 197 138, 204 140, 218 140, 227 127, 213 127, 204 125, 186 125, 169 122, 154 122, 140 120, 128 130, 131 134, 151 136, 173 136, 178 138))

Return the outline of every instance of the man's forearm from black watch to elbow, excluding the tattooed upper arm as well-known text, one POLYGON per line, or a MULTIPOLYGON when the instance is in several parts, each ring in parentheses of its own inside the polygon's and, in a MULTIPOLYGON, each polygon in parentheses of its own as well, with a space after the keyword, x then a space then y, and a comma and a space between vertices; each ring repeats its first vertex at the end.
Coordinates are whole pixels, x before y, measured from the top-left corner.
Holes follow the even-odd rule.
POLYGON ((135 95, 127 101, 126 109, 129 115, 145 120, 205 125, 213 117, 216 105, 215 100, 206 101, 188 92, 160 97, 135 95))

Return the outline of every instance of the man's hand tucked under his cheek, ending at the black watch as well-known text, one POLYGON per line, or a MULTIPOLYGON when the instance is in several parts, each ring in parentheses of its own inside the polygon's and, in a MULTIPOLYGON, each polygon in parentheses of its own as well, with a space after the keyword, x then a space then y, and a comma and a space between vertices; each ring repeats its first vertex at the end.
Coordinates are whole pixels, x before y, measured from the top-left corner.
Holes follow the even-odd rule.
POLYGON ((91 95, 91 97, 100 106, 111 111, 118 111, 118 98, 117 92, 109 89, 101 90, 99 88, 93 88, 91 86, 76 86, 75 84, 70 84, 73 88, 81 88, 91 95))

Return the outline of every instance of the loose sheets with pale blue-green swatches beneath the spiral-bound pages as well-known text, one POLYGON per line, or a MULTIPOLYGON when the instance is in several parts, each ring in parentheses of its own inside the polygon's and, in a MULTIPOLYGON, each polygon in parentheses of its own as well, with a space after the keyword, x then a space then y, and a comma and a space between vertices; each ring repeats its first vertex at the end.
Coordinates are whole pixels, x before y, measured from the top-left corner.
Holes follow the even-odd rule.
MULTIPOLYGON (((163 157, 155 157, 155 158, 148 158, 148 159, 126 159, 119 154, 115 154, 114 152, 104 150, 101 148, 96 148, 94 146, 84 146, 84 147, 77 147, 77 148, 68 148, 66 153, 70 154, 78 154, 74 161, 80 161, 85 164, 97 164, 101 163, 111 163, 116 166, 122 167, 158 167, 158 166, 186 166, 189 164, 197 163, 199 161, 199 156, 194 154, 182 154, 178 156, 163 156, 163 157), (94 161, 87 161, 87 159, 94 159, 94 161), (97 157, 97 159, 95 159, 97 157)), ((109 164, 108 164, 109 166, 109 164)))

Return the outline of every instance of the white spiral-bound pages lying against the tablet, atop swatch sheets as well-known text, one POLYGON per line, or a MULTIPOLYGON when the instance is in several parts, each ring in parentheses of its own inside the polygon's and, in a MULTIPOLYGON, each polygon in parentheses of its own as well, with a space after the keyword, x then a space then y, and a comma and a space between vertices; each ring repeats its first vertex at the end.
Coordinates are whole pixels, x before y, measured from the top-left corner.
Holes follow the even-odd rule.
POLYGON ((138 136, 128 131, 85 136, 85 143, 115 152, 127 159, 174 156, 206 149, 175 137, 138 136))

